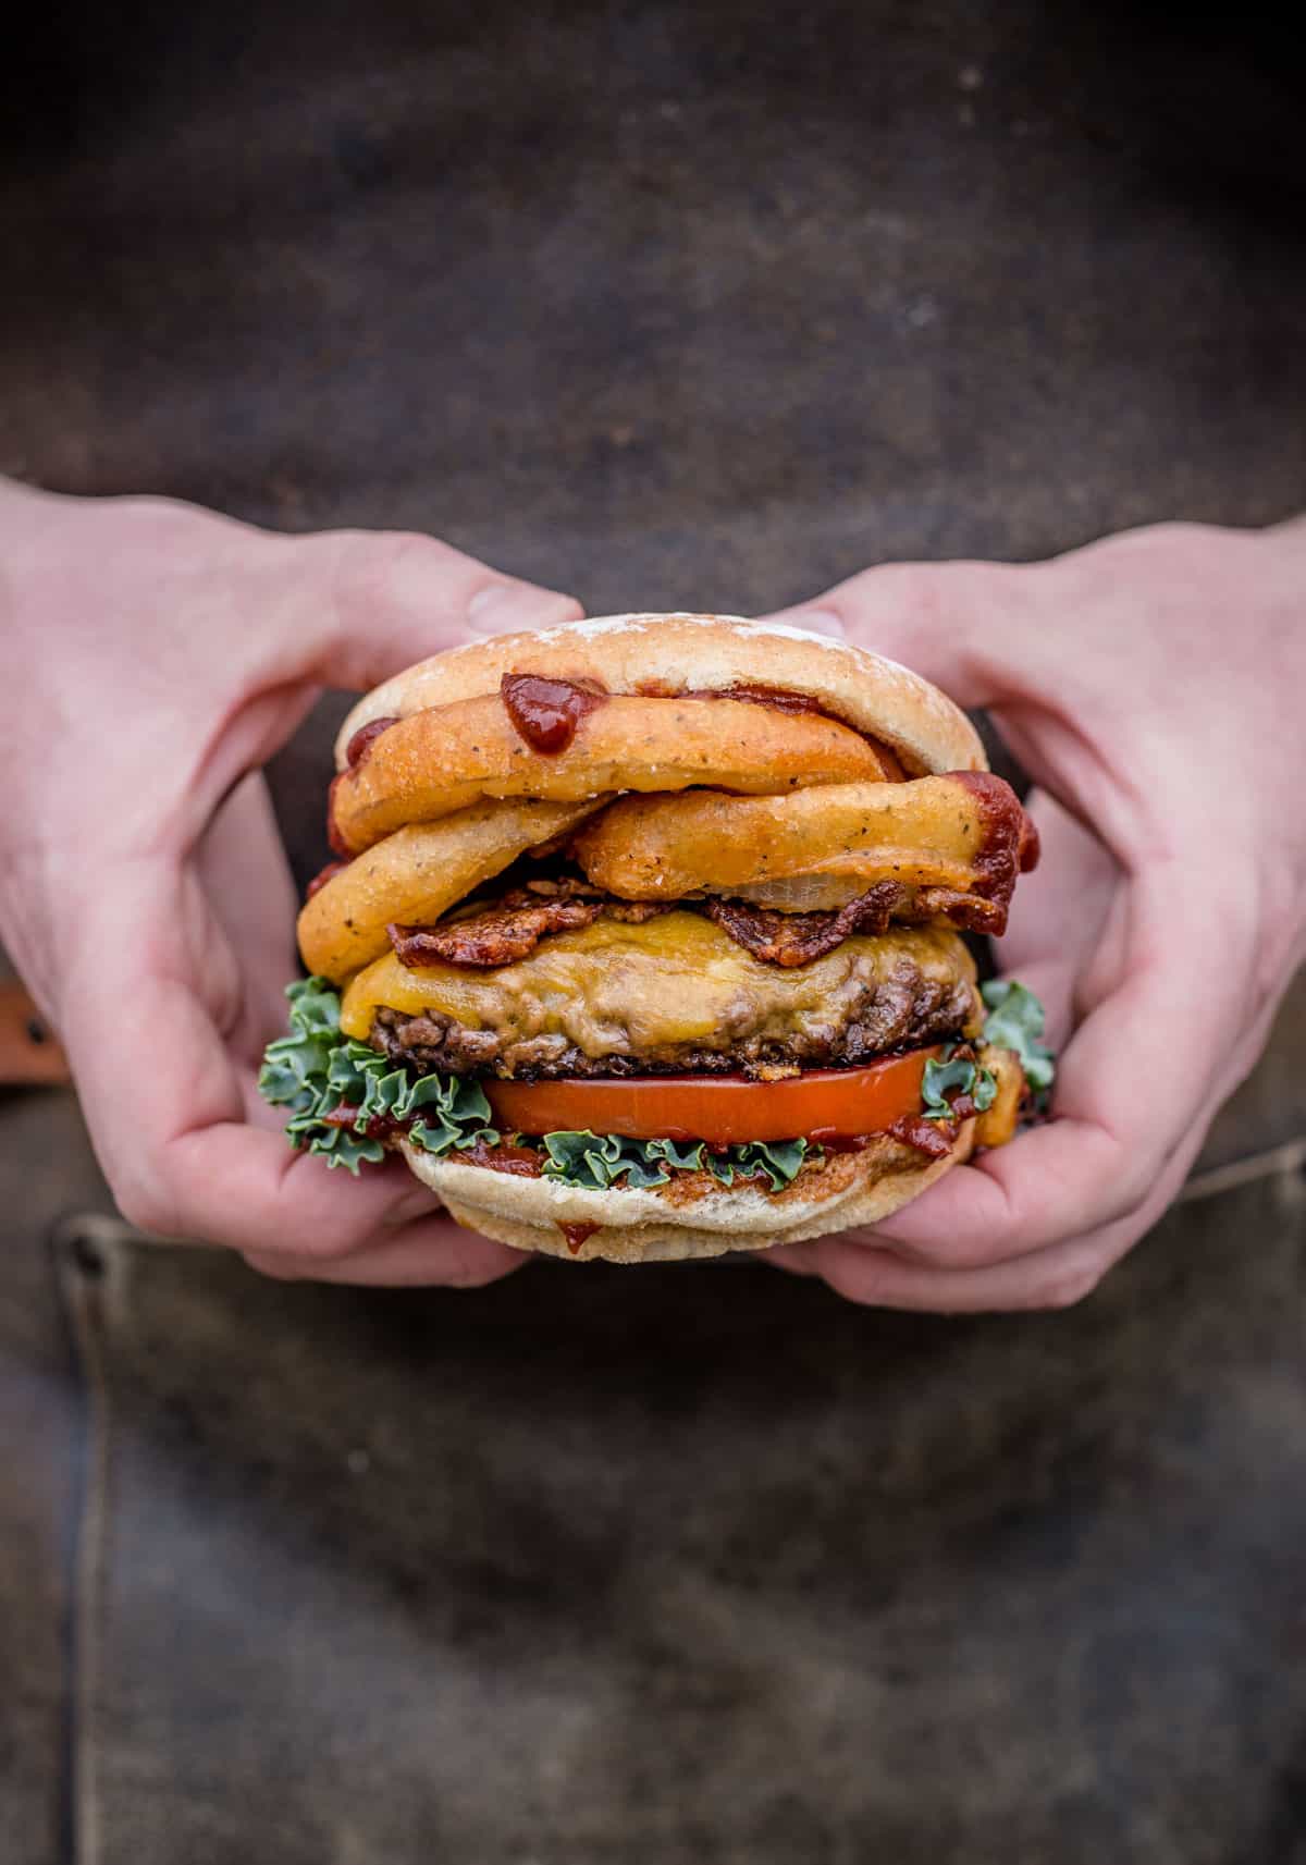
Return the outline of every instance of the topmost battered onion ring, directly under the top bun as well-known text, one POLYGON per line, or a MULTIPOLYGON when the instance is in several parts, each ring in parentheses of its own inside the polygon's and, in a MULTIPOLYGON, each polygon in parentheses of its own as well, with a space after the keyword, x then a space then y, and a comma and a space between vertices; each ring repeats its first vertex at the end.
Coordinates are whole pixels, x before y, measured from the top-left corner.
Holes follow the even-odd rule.
POLYGON ((561 752, 537 752, 499 694, 395 720, 332 787, 332 847, 358 854, 410 822, 434 822, 488 796, 553 804, 605 791, 710 783, 751 796, 799 785, 874 783, 874 746, 818 712, 751 699, 611 694, 561 752))

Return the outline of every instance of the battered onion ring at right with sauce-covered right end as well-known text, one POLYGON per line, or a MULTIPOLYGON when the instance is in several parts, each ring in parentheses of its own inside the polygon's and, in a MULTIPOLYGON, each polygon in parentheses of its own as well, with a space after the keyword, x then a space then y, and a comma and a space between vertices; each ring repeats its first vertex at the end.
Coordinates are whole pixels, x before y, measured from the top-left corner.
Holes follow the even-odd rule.
POLYGON ((831 783, 786 796, 630 796, 572 843, 587 880, 626 901, 771 890, 796 878, 950 888, 1006 906, 1034 828, 1002 778, 831 783))

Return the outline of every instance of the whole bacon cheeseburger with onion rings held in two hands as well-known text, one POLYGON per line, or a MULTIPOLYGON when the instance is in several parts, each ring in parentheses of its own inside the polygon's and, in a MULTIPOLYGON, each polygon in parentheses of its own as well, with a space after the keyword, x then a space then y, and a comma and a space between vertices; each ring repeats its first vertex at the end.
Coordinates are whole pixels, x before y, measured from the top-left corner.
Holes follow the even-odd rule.
POLYGON ((779 623, 617 615, 367 694, 263 1095, 520 1250, 643 1263, 876 1223, 1051 1082, 978 987, 1038 858, 935 686, 779 623))

